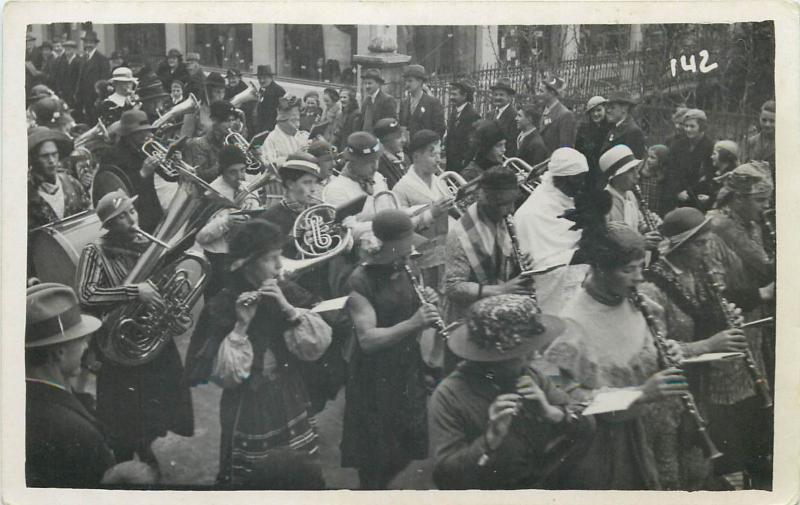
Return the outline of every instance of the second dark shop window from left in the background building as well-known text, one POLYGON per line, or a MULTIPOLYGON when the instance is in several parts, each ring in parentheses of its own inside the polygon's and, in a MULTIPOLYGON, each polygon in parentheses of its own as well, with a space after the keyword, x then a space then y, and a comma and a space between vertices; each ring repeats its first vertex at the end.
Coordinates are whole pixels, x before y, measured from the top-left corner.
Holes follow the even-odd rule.
POLYGON ((186 52, 200 64, 253 71, 253 25, 186 25, 186 52))

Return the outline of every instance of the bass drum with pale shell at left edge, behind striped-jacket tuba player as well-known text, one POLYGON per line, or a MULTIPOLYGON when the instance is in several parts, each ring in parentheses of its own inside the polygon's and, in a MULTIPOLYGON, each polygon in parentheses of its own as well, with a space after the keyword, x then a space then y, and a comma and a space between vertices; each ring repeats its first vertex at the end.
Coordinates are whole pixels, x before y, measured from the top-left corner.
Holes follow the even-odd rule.
POLYGON ((100 219, 85 211, 31 231, 28 254, 36 277, 75 288, 75 272, 83 247, 100 236, 100 219))

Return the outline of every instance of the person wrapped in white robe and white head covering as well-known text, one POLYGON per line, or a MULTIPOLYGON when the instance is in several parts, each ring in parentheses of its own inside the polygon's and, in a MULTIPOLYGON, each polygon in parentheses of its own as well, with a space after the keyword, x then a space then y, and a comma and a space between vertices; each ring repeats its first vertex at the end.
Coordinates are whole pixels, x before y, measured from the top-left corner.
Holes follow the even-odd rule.
POLYGON ((556 149, 542 183, 514 214, 520 247, 531 255, 534 270, 570 263, 581 232, 570 229, 572 223, 561 215, 575 207, 588 171, 583 154, 569 147, 556 149))

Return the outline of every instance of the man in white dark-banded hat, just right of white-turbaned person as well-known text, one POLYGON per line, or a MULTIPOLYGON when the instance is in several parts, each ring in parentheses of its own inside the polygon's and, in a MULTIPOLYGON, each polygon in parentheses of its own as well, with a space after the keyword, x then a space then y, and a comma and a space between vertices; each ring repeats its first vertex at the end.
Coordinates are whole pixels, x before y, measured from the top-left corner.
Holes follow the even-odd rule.
MULTIPOLYGON (((633 193, 639 183, 639 167, 642 160, 636 159, 633 152, 625 145, 617 145, 600 156, 600 170, 608 181, 606 191, 611 194, 611 211, 609 221, 627 224, 644 235, 647 249, 655 250, 661 242, 658 230, 651 230, 642 214, 640 202, 633 193)), ((661 218, 650 212, 650 220, 660 224, 661 218)))

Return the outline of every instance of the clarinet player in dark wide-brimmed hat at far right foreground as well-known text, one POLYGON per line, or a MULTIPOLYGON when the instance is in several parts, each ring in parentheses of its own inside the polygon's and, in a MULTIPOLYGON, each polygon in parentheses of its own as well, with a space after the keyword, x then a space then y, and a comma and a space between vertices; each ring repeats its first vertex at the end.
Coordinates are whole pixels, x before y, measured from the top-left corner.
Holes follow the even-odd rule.
MULTIPOLYGON (((736 267, 726 269, 725 254, 720 254, 725 246, 720 246, 711 232, 710 220, 691 207, 669 212, 661 226, 665 237, 659 247, 661 256, 645 271, 647 282, 638 289, 669 314, 663 318, 666 334, 680 342, 684 357, 749 352, 757 373, 766 377, 765 335, 758 328, 731 328, 719 296, 751 311, 774 300, 775 285, 751 286, 749 292, 715 288, 720 278, 733 278, 738 272, 736 267)), ((747 318, 759 317, 748 314, 747 318)), ((706 413, 708 433, 717 447, 725 448, 723 457, 714 463, 716 475, 744 471, 744 481, 750 481, 753 488, 769 486, 772 416, 764 410, 765 399, 756 394, 744 360, 717 362, 696 373, 704 385, 696 399, 706 413)))

